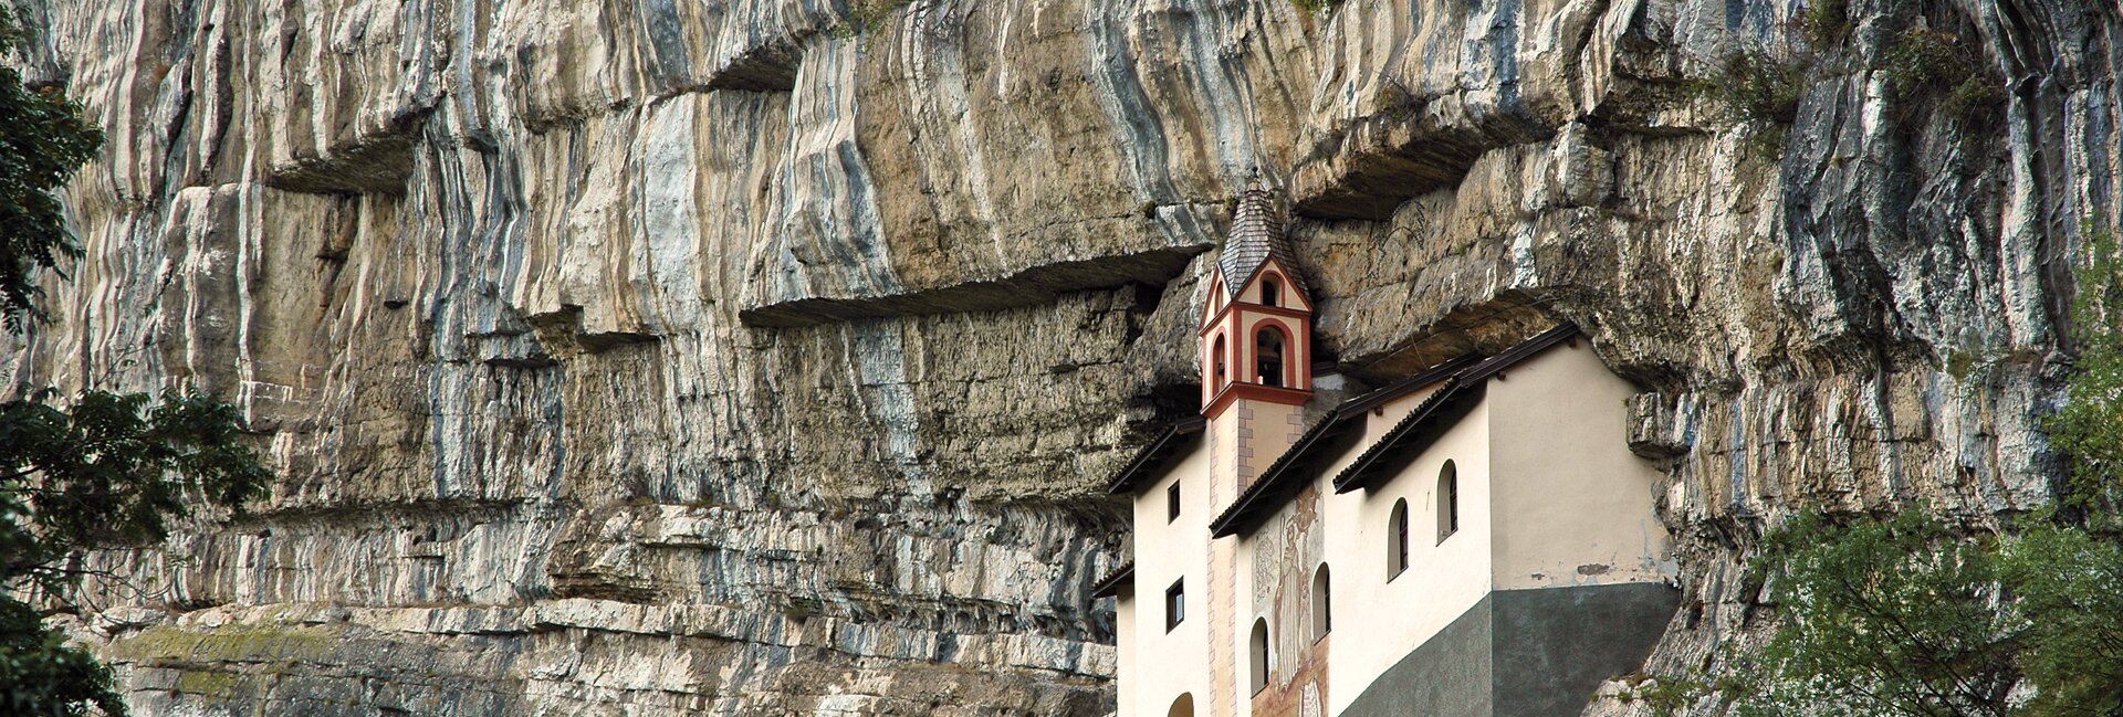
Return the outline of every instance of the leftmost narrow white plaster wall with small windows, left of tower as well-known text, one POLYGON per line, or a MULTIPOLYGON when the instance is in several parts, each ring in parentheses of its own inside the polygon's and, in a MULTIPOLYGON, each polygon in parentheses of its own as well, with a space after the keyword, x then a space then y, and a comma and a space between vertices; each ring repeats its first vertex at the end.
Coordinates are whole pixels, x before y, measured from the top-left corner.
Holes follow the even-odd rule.
POLYGON ((1195 445, 1163 479, 1136 494, 1136 596, 1121 630, 1123 717, 1163 717, 1193 694, 1197 713, 1210 694, 1208 668, 1208 522, 1210 450, 1195 445), (1166 520, 1166 490, 1180 484, 1180 518, 1166 520), (1187 619, 1166 632, 1166 588, 1187 581, 1187 619))

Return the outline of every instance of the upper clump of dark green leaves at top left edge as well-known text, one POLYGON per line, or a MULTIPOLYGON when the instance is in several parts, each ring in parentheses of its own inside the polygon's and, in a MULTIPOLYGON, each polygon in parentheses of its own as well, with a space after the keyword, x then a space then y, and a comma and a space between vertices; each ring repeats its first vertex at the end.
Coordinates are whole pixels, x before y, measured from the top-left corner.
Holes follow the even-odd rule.
MULTIPOLYGON (((0 6, 0 55, 19 42, 13 11, 0 6)), ((57 87, 25 87, 21 72, 0 66, 0 316, 8 331, 36 308, 36 276, 81 257, 66 231, 55 189, 96 155, 104 136, 57 87)))

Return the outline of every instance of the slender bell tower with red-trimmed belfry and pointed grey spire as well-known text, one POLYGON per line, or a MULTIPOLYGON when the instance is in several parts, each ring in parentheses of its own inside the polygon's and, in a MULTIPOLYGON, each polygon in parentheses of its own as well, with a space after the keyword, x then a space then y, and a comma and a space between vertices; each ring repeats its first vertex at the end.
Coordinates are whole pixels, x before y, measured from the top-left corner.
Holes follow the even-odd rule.
POLYGON ((1304 431, 1312 299, 1291 272, 1274 197, 1246 187, 1202 312, 1202 416, 1219 494, 1244 490, 1304 431))

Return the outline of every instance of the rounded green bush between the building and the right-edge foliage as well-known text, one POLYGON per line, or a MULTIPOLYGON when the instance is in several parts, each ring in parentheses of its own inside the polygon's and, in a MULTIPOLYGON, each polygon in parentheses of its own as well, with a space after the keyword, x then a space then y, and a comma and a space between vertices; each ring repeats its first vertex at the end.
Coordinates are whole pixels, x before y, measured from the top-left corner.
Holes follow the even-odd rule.
POLYGON ((1737 715, 2004 715, 2015 626, 1998 560, 1909 511, 1768 537, 1756 569, 1779 628, 1739 681, 1737 715))

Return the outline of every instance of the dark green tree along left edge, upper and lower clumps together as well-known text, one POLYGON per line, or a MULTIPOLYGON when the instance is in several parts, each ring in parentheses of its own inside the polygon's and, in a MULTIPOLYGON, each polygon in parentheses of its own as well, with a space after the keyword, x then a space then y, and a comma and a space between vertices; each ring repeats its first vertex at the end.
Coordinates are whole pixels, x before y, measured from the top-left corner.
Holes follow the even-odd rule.
MULTIPOLYGON (((0 6, 0 55, 19 38, 0 6)), ((25 87, 6 66, 0 117, 0 314, 19 333, 45 316, 38 274, 81 255, 53 191, 102 136, 62 89, 25 87)), ((240 509, 270 473, 242 441, 236 407, 210 397, 49 399, 0 403, 0 715, 125 715, 110 668, 68 645, 38 605, 64 605, 79 585, 72 554, 161 541, 193 503, 240 509)))

